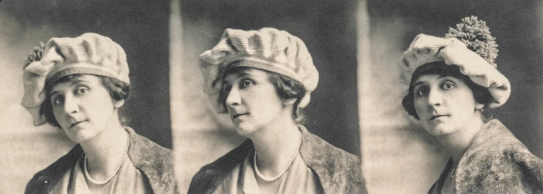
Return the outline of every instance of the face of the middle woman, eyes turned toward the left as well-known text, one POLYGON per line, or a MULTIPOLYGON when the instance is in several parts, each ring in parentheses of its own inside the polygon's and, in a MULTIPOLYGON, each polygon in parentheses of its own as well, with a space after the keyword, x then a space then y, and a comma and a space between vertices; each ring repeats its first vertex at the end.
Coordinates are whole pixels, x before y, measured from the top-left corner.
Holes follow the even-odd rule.
POLYGON ((225 105, 240 135, 251 134, 280 117, 283 101, 263 70, 250 68, 225 77, 225 105))

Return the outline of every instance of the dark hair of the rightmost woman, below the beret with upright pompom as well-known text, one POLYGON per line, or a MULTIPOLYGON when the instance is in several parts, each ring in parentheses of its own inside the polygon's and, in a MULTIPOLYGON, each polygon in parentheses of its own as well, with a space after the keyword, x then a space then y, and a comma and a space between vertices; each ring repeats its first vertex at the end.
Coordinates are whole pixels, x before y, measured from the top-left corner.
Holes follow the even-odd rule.
POLYGON ((403 97, 403 108, 406 110, 407 114, 413 116, 416 120, 420 120, 420 118, 415 111, 413 82, 422 75, 444 75, 462 80, 471 89, 475 102, 484 105, 483 109, 481 109, 483 121, 486 122, 493 118, 493 114, 489 111, 488 105, 494 101, 494 98, 490 95, 488 89, 471 81, 469 76, 460 73, 460 68, 458 66, 447 65, 443 61, 437 61, 424 64, 415 70, 411 77, 411 83, 409 83, 408 93, 403 97))

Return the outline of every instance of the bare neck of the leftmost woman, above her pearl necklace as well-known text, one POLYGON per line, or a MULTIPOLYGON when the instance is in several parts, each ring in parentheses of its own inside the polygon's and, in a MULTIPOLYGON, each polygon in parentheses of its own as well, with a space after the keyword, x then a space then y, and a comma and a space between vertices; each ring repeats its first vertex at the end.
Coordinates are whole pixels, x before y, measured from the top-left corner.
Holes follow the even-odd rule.
POLYGON ((87 169, 93 179, 104 180, 117 170, 127 141, 128 135, 124 127, 118 119, 112 118, 100 134, 80 143, 87 157, 87 169))

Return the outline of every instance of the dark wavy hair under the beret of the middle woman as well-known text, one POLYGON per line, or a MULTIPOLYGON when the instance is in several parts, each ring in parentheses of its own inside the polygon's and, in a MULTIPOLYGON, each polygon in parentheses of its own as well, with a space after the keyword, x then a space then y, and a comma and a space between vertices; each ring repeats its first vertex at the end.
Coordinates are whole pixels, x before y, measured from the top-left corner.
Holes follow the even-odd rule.
MULTIPOLYGON (((251 67, 232 67, 225 71, 223 74, 223 77, 220 79, 224 80, 226 76, 230 74, 239 74, 242 72, 245 72, 246 70, 254 69, 251 67)), ((262 69, 258 69, 262 70, 262 69)), ((287 99, 293 99, 296 98, 296 101, 294 102, 293 110, 292 110, 292 117, 294 121, 296 121, 297 124, 304 124, 305 122, 305 116, 303 113, 303 108, 298 107, 300 104, 300 101, 302 98, 304 98, 306 89, 304 85, 302 85, 301 82, 296 81, 292 79, 291 77, 288 77, 286 75, 269 72, 267 70, 263 70, 268 74, 268 80, 271 82, 271 85, 274 86, 275 92, 282 100, 287 99)), ((224 86, 223 86, 224 87, 224 86)), ((227 112, 226 109, 226 98, 228 98, 228 93, 224 91, 224 89, 220 90, 219 98, 217 99, 219 105, 222 105, 224 108, 224 112, 227 112)))

